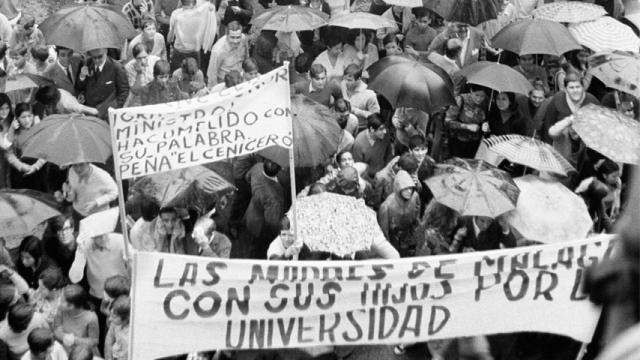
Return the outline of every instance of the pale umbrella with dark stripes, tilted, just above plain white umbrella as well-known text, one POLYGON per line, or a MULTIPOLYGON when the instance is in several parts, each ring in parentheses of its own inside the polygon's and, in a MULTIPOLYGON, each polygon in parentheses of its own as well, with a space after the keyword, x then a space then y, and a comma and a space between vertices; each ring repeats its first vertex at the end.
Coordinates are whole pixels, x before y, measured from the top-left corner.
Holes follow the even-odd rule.
POLYGON ((514 163, 563 176, 575 171, 553 146, 534 138, 502 135, 492 136, 483 141, 490 151, 514 163))

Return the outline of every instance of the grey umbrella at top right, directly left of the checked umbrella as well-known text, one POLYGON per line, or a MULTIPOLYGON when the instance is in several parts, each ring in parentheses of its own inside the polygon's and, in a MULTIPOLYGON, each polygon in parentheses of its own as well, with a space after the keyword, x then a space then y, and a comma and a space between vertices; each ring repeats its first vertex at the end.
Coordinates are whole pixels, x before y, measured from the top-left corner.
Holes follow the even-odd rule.
POLYGON ((581 49, 567 28, 549 20, 520 20, 505 26, 491 40, 495 47, 518 55, 549 54, 561 56, 581 49))

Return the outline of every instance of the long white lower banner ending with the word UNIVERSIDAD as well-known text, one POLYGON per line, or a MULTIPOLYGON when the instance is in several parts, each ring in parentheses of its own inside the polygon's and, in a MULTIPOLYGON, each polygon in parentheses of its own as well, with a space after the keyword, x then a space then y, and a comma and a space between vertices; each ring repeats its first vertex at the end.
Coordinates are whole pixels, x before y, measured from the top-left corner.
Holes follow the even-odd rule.
POLYGON ((132 358, 211 349, 398 344, 516 331, 588 342, 585 270, 612 237, 371 261, 134 257, 132 358), (188 336, 175 336, 188 334, 188 336))

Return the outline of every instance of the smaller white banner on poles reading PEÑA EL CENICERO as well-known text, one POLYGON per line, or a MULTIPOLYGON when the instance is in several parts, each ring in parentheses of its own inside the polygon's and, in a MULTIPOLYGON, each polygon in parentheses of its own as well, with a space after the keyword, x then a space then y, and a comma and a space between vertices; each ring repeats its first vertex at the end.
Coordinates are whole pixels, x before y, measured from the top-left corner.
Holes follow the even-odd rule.
POLYGON ((184 101, 110 109, 123 179, 293 145, 288 68, 184 101))

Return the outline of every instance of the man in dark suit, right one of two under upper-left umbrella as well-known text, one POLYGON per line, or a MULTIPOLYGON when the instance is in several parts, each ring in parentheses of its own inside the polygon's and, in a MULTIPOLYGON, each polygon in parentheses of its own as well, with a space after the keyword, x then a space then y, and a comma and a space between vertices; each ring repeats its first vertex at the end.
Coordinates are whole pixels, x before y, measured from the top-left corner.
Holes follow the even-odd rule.
POLYGON ((80 70, 76 89, 84 95, 85 105, 98 109, 107 119, 109 107, 121 108, 129 95, 127 73, 122 65, 107 56, 107 49, 88 52, 89 62, 80 70))

